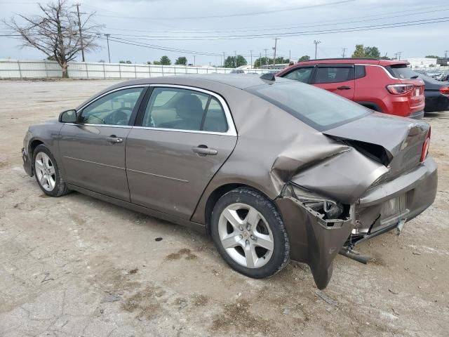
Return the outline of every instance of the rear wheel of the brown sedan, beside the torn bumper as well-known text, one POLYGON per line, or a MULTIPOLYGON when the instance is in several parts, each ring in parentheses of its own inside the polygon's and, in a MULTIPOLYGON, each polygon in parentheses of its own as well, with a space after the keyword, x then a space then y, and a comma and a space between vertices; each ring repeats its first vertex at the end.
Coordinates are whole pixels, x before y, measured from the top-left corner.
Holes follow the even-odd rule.
POLYGON ((215 204, 210 232, 222 258, 237 272, 261 279, 283 269, 290 243, 276 206, 248 187, 227 192, 215 204))

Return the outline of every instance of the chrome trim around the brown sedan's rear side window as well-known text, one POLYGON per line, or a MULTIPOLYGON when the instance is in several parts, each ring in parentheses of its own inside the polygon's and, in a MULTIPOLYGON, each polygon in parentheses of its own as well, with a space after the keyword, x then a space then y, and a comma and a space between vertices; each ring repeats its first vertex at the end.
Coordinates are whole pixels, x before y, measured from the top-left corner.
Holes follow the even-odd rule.
POLYGON ((180 128, 152 128, 150 126, 133 126, 133 128, 140 128, 146 130, 158 130, 158 131, 175 131, 175 132, 186 132, 186 133, 204 133, 208 135, 221 135, 221 136, 237 136, 236 126, 234 124, 234 119, 232 119, 231 110, 221 95, 214 93, 213 91, 208 91, 203 88, 196 88, 195 86, 183 86, 179 84, 149 84, 149 86, 157 87, 157 88, 179 88, 191 91, 198 91, 200 93, 206 93, 207 95, 211 95, 216 98, 220 104, 222 105, 223 110, 225 111, 225 117, 227 122, 227 131, 226 132, 217 132, 217 131, 201 131, 201 130, 184 130, 180 128))

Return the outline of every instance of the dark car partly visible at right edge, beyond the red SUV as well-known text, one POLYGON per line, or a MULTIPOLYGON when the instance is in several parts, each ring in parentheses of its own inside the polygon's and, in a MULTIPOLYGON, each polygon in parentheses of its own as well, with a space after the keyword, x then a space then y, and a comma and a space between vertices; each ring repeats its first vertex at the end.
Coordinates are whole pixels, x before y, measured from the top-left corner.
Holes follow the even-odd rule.
POLYGON ((441 82, 429 76, 420 74, 424 81, 424 96, 426 106, 424 112, 438 112, 449 110, 449 83, 441 82))

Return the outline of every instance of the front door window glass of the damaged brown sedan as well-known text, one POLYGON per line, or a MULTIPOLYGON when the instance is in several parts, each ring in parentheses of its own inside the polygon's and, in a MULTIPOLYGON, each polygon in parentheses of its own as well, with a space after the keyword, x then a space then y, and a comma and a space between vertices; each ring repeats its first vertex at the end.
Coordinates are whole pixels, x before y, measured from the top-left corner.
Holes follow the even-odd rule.
POLYGON ((128 88, 109 93, 83 109, 79 123, 128 125, 144 88, 128 88))

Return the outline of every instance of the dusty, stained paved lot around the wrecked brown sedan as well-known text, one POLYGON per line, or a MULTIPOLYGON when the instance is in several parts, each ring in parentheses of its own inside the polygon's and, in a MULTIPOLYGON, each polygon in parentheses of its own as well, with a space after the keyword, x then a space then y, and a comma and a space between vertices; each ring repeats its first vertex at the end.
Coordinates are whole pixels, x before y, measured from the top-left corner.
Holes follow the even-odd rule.
POLYGON ((0 336, 448 336, 449 112, 426 117, 434 205, 361 244, 374 263, 337 256, 318 291, 305 265, 249 279, 202 234, 39 190, 22 171, 27 126, 113 83, 0 81, 0 336))

